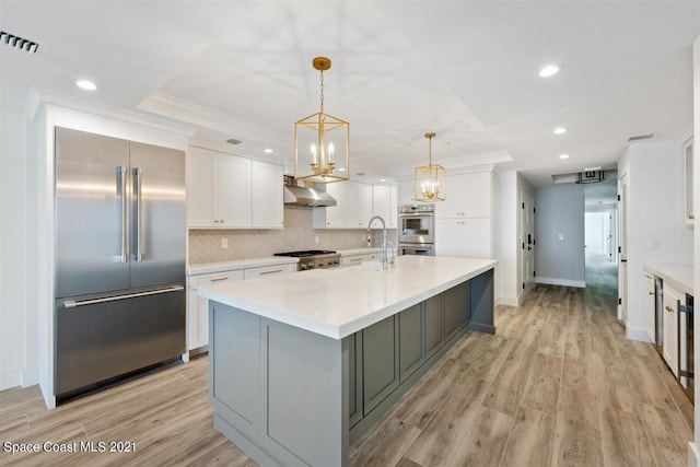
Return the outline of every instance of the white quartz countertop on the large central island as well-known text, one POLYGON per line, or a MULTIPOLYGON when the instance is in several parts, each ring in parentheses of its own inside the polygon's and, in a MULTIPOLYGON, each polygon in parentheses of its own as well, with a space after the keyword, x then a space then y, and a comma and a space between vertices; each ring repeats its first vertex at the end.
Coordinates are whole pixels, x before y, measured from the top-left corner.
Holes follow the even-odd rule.
POLYGON ((314 269, 211 284, 198 294, 334 339, 493 269, 492 259, 399 256, 396 267, 314 269))

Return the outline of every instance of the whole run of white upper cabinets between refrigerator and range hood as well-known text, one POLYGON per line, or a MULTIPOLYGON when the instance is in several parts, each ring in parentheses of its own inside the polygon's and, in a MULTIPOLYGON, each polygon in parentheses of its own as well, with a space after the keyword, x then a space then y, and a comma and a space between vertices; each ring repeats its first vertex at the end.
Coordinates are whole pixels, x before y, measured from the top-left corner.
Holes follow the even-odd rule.
POLYGON ((281 165, 188 147, 187 225, 281 229, 282 173, 281 165))

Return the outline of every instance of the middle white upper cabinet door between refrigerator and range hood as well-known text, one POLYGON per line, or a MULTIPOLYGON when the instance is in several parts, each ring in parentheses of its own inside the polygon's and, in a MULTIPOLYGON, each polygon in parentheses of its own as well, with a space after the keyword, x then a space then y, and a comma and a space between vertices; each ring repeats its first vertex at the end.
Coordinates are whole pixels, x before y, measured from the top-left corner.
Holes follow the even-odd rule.
POLYGON ((250 161, 221 154, 217 159, 214 214, 222 227, 250 225, 250 161))

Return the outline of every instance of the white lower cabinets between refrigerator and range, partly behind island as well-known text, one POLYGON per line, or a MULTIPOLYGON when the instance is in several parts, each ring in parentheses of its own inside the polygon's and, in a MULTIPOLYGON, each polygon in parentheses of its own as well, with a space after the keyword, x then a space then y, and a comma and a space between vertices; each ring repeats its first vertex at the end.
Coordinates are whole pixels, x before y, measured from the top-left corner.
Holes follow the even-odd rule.
POLYGON ((295 262, 292 262, 190 276, 187 290, 189 327, 187 331, 187 350, 199 349, 209 345, 209 300, 197 295, 197 289, 210 284, 295 272, 296 266, 295 262))

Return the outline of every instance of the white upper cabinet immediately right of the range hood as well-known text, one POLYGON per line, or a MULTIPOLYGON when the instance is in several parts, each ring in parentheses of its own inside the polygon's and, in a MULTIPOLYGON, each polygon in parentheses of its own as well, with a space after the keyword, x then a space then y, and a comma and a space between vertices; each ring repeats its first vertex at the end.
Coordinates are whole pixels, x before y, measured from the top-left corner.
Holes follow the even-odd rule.
MULTIPOLYGON (((336 206, 314 208, 314 229, 366 229, 373 215, 372 185, 338 182, 326 185, 336 206)), ((387 225, 388 227, 388 225, 387 225)))

